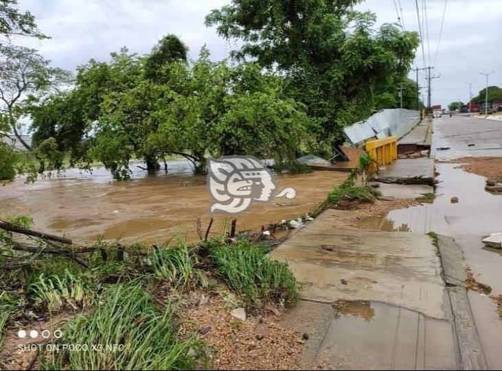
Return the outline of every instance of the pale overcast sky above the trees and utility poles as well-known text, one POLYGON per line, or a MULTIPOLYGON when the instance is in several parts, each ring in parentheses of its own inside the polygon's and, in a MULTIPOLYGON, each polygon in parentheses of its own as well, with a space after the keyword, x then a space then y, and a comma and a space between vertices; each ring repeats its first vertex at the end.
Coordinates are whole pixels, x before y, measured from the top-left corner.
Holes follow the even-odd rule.
MULTIPOLYGON (((108 60, 111 51, 127 46, 148 53, 164 34, 176 34, 196 58, 206 44, 212 58, 225 58, 234 45, 204 25, 205 15, 229 0, 19 0, 19 8, 30 10, 50 40, 23 40, 41 51, 53 64, 74 71, 90 58, 108 60)), ((396 0, 402 8, 407 30, 418 31, 415 0, 396 0)), ((422 15, 423 0, 418 0, 422 15)), ((502 0, 448 0, 442 40, 435 59, 444 0, 426 0, 429 43, 423 31, 425 56, 418 49, 416 65, 435 66, 433 104, 468 100, 468 82, 476 94, 484 87, 479 72, 496 71, 490 85, 502 86, 502 0), (430 62, 429 62, 430 60, 430 62), (434 62, 436 60, 436 62, 434 62)), ((378 23, 397 22, 393 0, 367 0, 360 10, 372 10, 378 23)), ((413 74, 414 75, 414 74, 413 74)), ((421 73, 420 85, 426 84, 421 73)), ((425 92, 425 90, 423 90, 425 92)))

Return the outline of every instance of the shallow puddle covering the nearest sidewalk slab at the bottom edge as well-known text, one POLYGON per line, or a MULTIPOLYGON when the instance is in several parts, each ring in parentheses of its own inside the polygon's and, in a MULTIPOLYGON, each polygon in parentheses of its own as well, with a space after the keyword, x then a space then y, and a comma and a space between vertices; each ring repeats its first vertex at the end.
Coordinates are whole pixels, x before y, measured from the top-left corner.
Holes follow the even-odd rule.
POLYGON ((333 370, 457 370, 448 321, 382 302, 339 301, 316 363, 333 370))

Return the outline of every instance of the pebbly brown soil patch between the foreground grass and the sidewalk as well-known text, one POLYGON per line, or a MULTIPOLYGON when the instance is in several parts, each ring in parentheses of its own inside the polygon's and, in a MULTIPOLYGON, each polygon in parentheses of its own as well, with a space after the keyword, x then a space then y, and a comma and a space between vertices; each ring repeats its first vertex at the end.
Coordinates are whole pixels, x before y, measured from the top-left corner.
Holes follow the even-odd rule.
POLYGON ((306 340, 281 326, 279 315, 270 311, 242 322, 214 297, 187 309, 181 319, 185 333, 198 333, 213 349, 209 366, 216 370, 298 370, 306 340))

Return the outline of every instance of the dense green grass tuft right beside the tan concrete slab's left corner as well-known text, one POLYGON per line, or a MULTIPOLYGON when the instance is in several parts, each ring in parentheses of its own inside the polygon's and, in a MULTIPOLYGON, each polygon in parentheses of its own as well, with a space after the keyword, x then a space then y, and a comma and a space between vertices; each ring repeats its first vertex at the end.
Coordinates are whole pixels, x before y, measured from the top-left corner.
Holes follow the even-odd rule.
POLYGON ((295 276, 288 265, 271 260, 265 254, 267 248, 241 240, 231 246, 212 248, 210 254, 219 274, 248 304, 292 304, 298 297, 295 276))

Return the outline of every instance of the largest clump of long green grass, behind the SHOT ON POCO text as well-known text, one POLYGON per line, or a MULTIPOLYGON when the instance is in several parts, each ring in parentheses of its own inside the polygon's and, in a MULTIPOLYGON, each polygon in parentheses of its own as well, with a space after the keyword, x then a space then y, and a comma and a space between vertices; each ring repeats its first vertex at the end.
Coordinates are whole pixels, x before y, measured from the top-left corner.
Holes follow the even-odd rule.
POLYGON ((94 313, 78 315, 62 334, 60 344, 80 344, 82 351, 46 354, 44 369, 193 370, 190 353, 201 350, 195 339, 179 339, 170 308, 157 310, 138 284, 104 292, 94 313))

